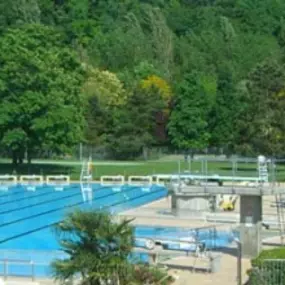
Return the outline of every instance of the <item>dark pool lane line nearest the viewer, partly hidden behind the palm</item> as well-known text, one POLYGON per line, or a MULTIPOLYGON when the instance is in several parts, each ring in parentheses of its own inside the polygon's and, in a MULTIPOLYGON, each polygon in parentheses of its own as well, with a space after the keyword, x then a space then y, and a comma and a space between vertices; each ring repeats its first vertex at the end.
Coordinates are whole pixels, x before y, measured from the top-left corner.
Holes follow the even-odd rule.
MULTIPOLYGON (((137 187, 132 187, 131 189, 134 190, 135 188, 137 188, 137 187)), ((116 202, 116 203, 114 203, 114 204, 112 204, 112 205, 104 206, 104 207, 102 207, 102 208, 99 209, 99 210, 102 211, 102 210, 105 209, 105 208, 111 208, 111 207, 114 207, 114 206, 123 205, 123 204, 125 204, 125 203, 129 203, 130 201, 134 201, 134 200, 140 199, 140 198, 142 198, 142 197, 150 196, 150 195, 152 195, 152 194, 156 194, 156 193, 159 193, 159 192, 164 192, 165 190, 166 190, 165 188, 159 187, 158 190, 155 190, 155 191, 153 191, 153 192, 147 192, 147 193, 145 193, 145 194, 143 194, 143 195, 141 195, 141 196, 138 196, 138 197, 129 199, 128 201, 124 200, 123 203, 122 203, 122 201, 116 202)), ((115 194, 114 194, 114 192, 113 192, 114 195, 116 195, 116 194, 118 194, 118 193, 120 193, 120 192, 115 192, 115 194)), ((95 199, 92 199, 92 201, 95 201, 95 199)), ((84 203, 84 202, 83 202, 83 203, 84 203)), ((32 233, 35 233, 35 232, 38 232, 38 231, 41 231, 41 230, 50 228, 51 226, 55 226, 55 225, 57 225, 57 224, 59 224, 59 223, 61 223, 61 222, 62 222, 62 220, 60 220, 60 221, 58 221, 58 222, 54 222, 54 223, 48 224, 48 225, 45 225, 45 226, 42 226, 42 227, 39 227, 39 228, 36 228, 36 229, 34 229, 34 230, 30 230, 30 231, 27 231, 27 232, 24 232, 24 233, 21 233, 21 234, 18 234, 18 235, 15 235, 15 236, 12 236, 12 237, 3 239, 3 240, 0 240, 0 244, 5 243, 5 242, 10 241, 10 240, 13 240, 13 239, 17 239, 17 238, 22 237, 22 236, 26 236, 26 235, 29 235, 29 234, 32 234, 32 233)))

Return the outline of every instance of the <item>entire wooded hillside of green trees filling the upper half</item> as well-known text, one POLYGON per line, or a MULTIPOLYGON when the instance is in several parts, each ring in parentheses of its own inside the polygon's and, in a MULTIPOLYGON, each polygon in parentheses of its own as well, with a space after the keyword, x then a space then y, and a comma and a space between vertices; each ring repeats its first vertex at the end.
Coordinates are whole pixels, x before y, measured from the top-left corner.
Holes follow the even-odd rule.
POLYGON ((152 146, 285 154, 284 1, 0 0, 0 8, 0 140, 14 155, 67 152, 79 141, 120 159, 152 146), (70 94, 70 109, 52 107, 61 114, 53 134, 40 122, 43 106, 25 113, 19 104, 55 93, 58 104, 70 94))

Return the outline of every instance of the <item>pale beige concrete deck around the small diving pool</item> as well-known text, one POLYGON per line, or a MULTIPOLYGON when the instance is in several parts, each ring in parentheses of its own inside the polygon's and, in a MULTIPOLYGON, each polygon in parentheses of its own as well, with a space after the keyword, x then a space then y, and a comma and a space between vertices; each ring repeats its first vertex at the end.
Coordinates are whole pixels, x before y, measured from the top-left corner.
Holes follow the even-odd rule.
MULTIPOLYGON (((274 207, 275 197, 268 196, 263 202, 263 213, 267 218, 276 217, 276 208, 274 207)), ((149 225, 149 226, 174 226, 174 227, 187 227, 187 228, 199 228, 205 226, 217 226, 221 230, 230 230, 231 227, 238 226, 238 215, 239 215, 239 203, 237 203, 236 210, 233 213, 218 213, 219 217, 232 217, 233 223, 219 223, 214 219, 209 222, 200 213, 186 213, 183 215, 171 215, 169 211, 171 210, 171 198, 167 197, 159 201, 150 203, 148 205, 141 206, 137 209, 132 209, 125 211, 120 214, 121 217, 131 217, 135 218, 133 221, 134 225, 149 225), (163 214, 163 211, 167 213, 163 214)), ((219 220, 219 219, 217 219, 219 220)), ((267 232, 265 232, 267 233, 267 232)), ((268 237, 265 234, 264 242, 266 244, 272 244, 278 246, 280 244, 280 237, 278 233, 268 232, 268 237), (272 236, 270 236, 270 234, 272 236)), ((271 248, 271 246, 264 245, 263 248, 271 248)), ((202 259, 199 259, 196 266, 199 267, 199 262, 203 263, 202 259)), ((237 284, 237 257, 235 254, 229 254, 226 252, 221 253, 221 266, 217 273, 203 273, 192 271, 191 264, 193 264, 193 257, 180 256, 173 257, 172 259, 162 262, 170 269, 170 273, 178 276, 175 281, 175 285, 207 285, 207 284, 220 284, 220 285, 236 285, 237 284)), ((205 267, 204 264, 201 264, 205 267)), ((251 268, 250 259, 242 259, 242 282, 243 284, 247 281, 246 271, 251 268)))

